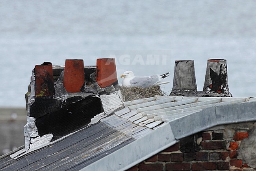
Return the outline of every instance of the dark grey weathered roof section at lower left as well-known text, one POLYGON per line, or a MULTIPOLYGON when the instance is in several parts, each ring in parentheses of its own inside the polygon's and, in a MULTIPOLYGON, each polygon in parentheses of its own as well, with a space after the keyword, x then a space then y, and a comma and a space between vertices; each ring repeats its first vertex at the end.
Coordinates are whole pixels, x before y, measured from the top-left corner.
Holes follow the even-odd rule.
POLYGON ((6 156, 0 159, 0 170, 79 170, 132 141, 98 122, 18 160, 6 156))

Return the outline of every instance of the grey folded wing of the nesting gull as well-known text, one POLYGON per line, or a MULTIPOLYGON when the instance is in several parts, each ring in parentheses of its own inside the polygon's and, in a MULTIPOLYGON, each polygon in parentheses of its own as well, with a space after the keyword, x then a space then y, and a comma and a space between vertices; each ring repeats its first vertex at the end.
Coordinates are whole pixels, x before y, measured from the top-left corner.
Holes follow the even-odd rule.
POLYGON ((142 88, 153 86, 157 82, 159 82, 158 75, 136 76, 135 78, 130 80, 131 87, 142 87, 142 88))

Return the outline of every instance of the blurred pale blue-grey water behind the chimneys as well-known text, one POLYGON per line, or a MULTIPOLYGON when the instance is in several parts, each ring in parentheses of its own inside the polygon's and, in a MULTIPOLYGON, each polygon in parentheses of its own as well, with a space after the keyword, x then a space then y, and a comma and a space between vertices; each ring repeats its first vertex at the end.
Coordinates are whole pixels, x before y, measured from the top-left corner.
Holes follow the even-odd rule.
POLYGON ((36 64, 81 58, 96 65, 106 51, 170 52, 164 64, 117 65, 118 75, 128 69, 137 76, 171 71, 171 83, 162 86, 168 95, 175 60, 195 60, 201 91, 207 59, 225 58, 230 93, 256 96, 255 9, 254 0, 1 0, 0 107, 26 106, 36 64))

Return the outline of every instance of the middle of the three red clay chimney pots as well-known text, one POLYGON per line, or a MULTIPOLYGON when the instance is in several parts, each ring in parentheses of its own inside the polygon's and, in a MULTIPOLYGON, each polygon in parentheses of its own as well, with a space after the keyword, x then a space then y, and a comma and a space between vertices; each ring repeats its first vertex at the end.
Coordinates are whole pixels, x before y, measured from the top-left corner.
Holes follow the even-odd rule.
POLYGON ((81 92, 85 84, 84 66, 82 59, 66 59, 63 86, 69 93, 81 92))

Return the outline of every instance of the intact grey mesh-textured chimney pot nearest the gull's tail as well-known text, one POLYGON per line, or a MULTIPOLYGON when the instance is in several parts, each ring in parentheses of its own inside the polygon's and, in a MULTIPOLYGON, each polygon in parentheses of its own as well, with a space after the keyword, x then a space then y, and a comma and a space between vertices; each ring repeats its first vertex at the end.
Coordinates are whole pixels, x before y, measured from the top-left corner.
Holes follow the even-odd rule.
POLYGON ((197 93, 194 60, 176 60, 169 96, 195 96, 197 93))

